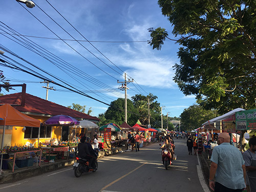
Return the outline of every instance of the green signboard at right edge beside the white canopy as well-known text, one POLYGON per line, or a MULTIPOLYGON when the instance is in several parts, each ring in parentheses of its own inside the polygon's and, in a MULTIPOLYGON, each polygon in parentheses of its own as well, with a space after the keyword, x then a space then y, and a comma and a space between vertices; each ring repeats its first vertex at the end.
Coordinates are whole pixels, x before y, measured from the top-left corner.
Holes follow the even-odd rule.
POLYGON ((256 130, 256 109, 236 112, 237 130, 256 130))

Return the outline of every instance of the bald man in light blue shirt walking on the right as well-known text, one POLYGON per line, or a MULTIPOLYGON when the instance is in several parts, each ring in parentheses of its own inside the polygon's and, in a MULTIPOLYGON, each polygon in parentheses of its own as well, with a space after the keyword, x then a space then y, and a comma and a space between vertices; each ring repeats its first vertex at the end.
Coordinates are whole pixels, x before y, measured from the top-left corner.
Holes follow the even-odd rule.
POLYGON ((210 158, 210 188, 215 192, 242 192, 246 170, 241 152, 230 144, 228 133, 220 133, 217 143, 210 158))

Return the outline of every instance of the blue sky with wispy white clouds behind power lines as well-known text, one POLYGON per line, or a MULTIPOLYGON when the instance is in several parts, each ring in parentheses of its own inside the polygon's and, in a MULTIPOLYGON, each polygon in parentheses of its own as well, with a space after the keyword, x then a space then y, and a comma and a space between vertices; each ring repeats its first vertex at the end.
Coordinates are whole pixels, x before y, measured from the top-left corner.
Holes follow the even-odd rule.
MULTIPOLYGON (((124 91, 113 92, 121 86, 120 83, 117 83, 117 79, 124 81, 124 72, 128 78, 131 77, 136 81, 127 86, 129 88, 127 91, 128 97, 130 98, 135 94, 147 95, 152 93, 158 97, 157 101, 160 102, 161 106, 165 106, 164 115, 170 112, 169 116, 178 117, 185 108, 196 102, 194 96, 185 97, 173 81, 175 73, 173 66, 175 63, 179 63, 179 58, 177 57, 179 45, 175 44, 174 41, 166 40, 161 51, 158 51, 152 50, 152 47, 146 42, 150 39, 150 33, 147 29, 151 27, 163 27, 168 31, 170 38, 175 38, 171 34, 172 25, 161 14, 157 1, 49 1, 83 37, 45 0, 35 0, 34 2, 36 6, 32 9, 27 8, 25 4, 20 6, 15 0, 1 2, 1 46, 46 70, 54 77, 62 79, 67 84, 72 84, 73 87, 83 90, 84 93, 105 103, 110 103, 118 97, 124 97, 124 91), (58 37, 27 10, 60 38, 85 40, 85 37, 91 41, 94 47, 86 41, 79 41, 81 46, 76 41, 65 40, 67 45, 59 39, 52 39, 58 37), (71 34, 73 38, 57 26, 42 10, 71 34), (19 39, 19 36, 13 35, 12 37, 7 34, 8 31, 4 28, 5 25, 22 35, 33 36, 26 37, 61 58, 65 62, 65 64, 61 62, 61 65, 68 65, 68 67, 56 67, 56 62, 54 65, 49 59, 18 45, 11 39, 14 39, 14 37, 19 39), (34 36, 47 37, 49 39, 36 38, 34 36), (88 78, 85 78, 85 76, 88 78), (105 89, 108 90, 106 91, 105 89)), ((24 66, 43 74, 55 82, 60 82, 7 52, 4 55, 15 59, 24 66)), ((4 57, 0 58, 4 59, 4 57)), ((41 79, 2 66, 0 66, 0 70, 4 72, 6 78, 10 79, 13 84, 25 82, 27 84, 27 93, 46 98, 46 89, 42 88, 46 84, 40 83, 41 79)), ((52 83, 50 83, 50 86, 54 87, 56 91, 49 90, 49 101, 64 106, 72 103, 86 105, 87 110, 90 107, 92 108, 91 115, 93 116, 104 113, 108 109, 108 105, 91 98, 65 91, 64 88, 52 83)), ((15 90, 10 91, 10 93, 17 92, 21 92, 21 89, 15 88, 15 90)), ((2 93, 8 94, 6 91, 2 93)))

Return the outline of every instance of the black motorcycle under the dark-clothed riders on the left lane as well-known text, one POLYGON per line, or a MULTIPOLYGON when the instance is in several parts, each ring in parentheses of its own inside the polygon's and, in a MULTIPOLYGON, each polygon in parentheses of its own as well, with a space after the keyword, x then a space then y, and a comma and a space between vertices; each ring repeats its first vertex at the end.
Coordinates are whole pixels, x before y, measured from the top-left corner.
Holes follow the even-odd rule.
POLYGON ((97 157, 98 157, 98 150, 95 150, 95 169, 91 169, 89 168, 89 160, 88 159, 83 159, 79 156, 76 157, 76 162, 73 164, 73 170, 75 173, 76 177, 80 177, 82 175, 82 173, 88 173, 88 172, 96 172, 96 170, 98 169, 98 161, 97 161, 97 157))

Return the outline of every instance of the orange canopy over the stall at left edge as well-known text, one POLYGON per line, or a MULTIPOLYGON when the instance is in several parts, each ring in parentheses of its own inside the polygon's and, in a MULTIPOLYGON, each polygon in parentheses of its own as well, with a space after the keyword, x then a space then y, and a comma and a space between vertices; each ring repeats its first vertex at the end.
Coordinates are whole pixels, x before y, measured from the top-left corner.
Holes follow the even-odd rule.
POLYGON ((40 127, 40 121, 13 108, 10 104, 0 106, 0 125, 40 127))

